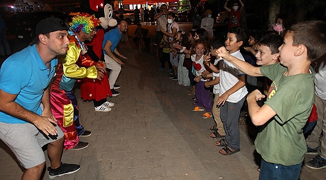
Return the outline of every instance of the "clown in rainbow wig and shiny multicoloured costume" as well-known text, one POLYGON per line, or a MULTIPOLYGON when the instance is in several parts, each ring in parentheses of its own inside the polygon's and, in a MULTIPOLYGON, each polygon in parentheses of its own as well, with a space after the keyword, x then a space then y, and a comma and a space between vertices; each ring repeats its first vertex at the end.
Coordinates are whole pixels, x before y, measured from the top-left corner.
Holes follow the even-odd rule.
POLYGON ((50 92, 51 109, 58 120, 58 125, 65 133, 64 149, 83 149, 88 142, 79 141, 78 136, 89 136, 91 131, 84 130, 79 123, 77 98, 72 88, 78 78, 101 79, 105 71, 105 63, 94 62, 83 54, 87 47, 85 40, 92 40, 96 35, 96 26, 100 23, 94 15, 80 13, 73 17, 69 31, 67 54, 62 57, 50 92), (82 66, 87 66, 82 67, 82 66))

